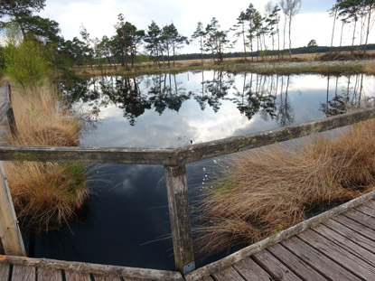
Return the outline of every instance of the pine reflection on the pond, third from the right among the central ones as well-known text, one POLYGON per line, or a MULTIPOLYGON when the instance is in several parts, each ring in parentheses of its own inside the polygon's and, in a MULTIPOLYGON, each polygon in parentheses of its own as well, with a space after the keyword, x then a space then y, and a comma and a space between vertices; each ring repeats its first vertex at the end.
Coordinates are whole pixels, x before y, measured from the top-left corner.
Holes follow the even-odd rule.
POLYGON ((212 80, 204 80, 202 73, 202 95, 196 94, 194 99, 202 110, 208 104, 217 113, 221 106, 221 100, 225 99, 234 83, 232 75, 224 71, 213 71, 212 80))

